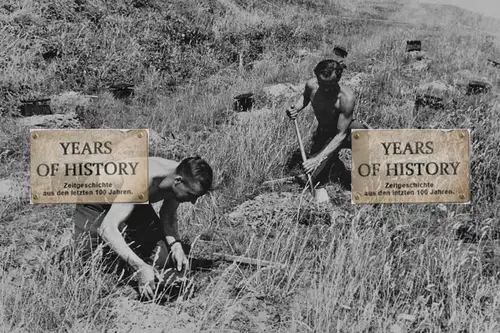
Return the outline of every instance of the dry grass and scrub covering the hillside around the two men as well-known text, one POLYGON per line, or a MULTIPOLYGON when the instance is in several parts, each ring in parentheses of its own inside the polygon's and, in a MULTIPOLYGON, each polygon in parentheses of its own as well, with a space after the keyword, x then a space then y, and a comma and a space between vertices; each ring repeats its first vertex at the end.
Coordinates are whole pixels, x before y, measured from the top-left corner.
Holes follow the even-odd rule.
MULTIPOLYGON (((213 166, 218 190, 195 207, 181 207, 181 232, 195 256, 227 252, 287 268, 224 264, 194 273, 189 299, 117 307, 116 299, 124 296, 116 277, 102 274, 95 263, 79 265, 71 256, 62 264, 51 261, 71 231, 71 205, 1 202, 0 331, 499 331, 497 95, 461 95, 445 110, 421 110, 424 116, 413 109, 420 82, 453 84, 459 70, 496 85, 498 69, 488 67, 486 59, 498 56, 498 39, 460 26, 484 28, 491 23, 486 19, 454 8, 412 6, 313 0, 3 1, 0 148, 14 153, 0 161, 0 176, 28 170, 28 129, 12 118, 21 99, 68 90, 96 94, 97 100, 78 110, 86 128, 173 134, 176 145, 155 151, 166 157, 197 152, 213 166), (384 19, 410 24, 377 21, 384 19), (405 70, 406 39, 423 41, 432 58, 428 71, 405 70), (376 128, 472 129, 470 206, 352 206, 341 192, 332 192, 338 205, 334 223, 303 224, 303 214, 279 212, 260 215, 264 220, 258 226, 251 215, 248 223, 231 221, 227 213, 262 193, 262 181, 287 173, 287 158, 296 149, 283 112, 289 101, 269 101, 263 86, 304 81, 334 44, 351 52, 346 75, 371 74, 357 88, 357 118, 376 128), (60 57, 45 61, 42 53, 50 48, 60 57), (317 57, 299 58, 302 48, 317 57), (244 68, 238 66, 241 51, 244 68), (117 82, 134 83, 134 97, 114 100, 106 88, 117 82), (235 122, 232 98, 248 91, 255 93, 258 107, 267 103, 273 112, 235 122), (475 242, 458 239, 457 229, 475 242), (120 308, 125 310, 117 314, 120 308), (142 318, 146 323, 140 326, 142 318)), ((308 139, 313 117, 304 114, 299 121, 308 139)), ((309 208, 296 198, 289 205, 280 211, 309 208)))

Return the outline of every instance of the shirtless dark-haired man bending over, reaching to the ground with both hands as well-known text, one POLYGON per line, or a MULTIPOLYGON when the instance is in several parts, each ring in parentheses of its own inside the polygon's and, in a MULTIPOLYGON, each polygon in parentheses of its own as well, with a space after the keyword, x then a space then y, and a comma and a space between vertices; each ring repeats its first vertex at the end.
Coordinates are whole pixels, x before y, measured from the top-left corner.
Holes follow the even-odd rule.
POLYGON ((74 238, 89 258, 101 240, 130 268, 135 270, 141 295, 154 296, 155 269, 174 264, 178 271, 188 269, 189 261, 179 240, 177 207, 195 203, 212 185, 212 168, 200 157, 180 163, 149 157, 149 204, 78 204, 74 238), (163 200, 160 216, 151 203, 163 200), (125 238, 118 227, 125 225, 125 238), (131 242, 131 246, 127 244, 131 242), (155 267, 147 264, 155 254, 155 267))

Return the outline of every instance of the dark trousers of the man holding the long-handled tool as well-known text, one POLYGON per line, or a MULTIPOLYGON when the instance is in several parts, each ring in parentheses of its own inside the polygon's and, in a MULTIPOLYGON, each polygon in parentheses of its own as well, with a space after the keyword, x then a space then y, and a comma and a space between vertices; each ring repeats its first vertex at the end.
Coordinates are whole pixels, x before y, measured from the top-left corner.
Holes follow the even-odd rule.
MULTIPOLYGON (((314 185, 322 186, 327 184, 329 181, 333 181, 339 183, 345 189, 351 189, 351 172, 347 170, 344 163, 340 160, 339 152, 341 149, 351 149, 351 130, 353 129, 368 129, 368 126, 357 120, 353 120, 351 122, 351 125, 349 125, 349 129, 347 130, 346 138, 335 150, 321 171, 315 172, 312 175, 314 185)), ((330 141, 332 141, 337 132, 337 128, 322 128, 321 126, 318 126, 312 138, 313 143, 309 155, 311 157, 316 156, 330 143, 330 141)))

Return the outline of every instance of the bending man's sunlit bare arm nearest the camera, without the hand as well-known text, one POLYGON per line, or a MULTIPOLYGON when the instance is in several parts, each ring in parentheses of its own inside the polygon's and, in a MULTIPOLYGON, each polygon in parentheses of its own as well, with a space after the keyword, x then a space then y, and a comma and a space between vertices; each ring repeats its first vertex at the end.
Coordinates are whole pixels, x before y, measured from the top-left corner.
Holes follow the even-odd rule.
POLYGON ((118 226, 132 214, 134 204, 114 203, 104 217, 101 226, 97 230, 99 236, 116 252, 123 260, 130 264, 135 270, 139 270, 146 263, 132 251, 118 230, 118 226))

